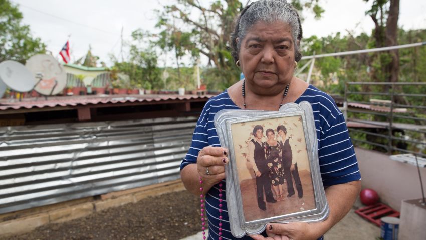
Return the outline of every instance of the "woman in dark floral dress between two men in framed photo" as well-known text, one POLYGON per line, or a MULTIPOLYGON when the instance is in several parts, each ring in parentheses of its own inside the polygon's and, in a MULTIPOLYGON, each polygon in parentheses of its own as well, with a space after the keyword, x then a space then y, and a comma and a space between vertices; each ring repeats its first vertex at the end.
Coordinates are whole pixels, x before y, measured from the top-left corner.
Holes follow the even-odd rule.
POLYGON ((275 195, 275 200, 282 200, 283 185, 283 167, 281 164, 281 146, 275 140, 275 132, 272 129, 266 130, 268 140, 264 142, 266 162, 268 163, 269 179, 271 181, 272 191, 275 195))

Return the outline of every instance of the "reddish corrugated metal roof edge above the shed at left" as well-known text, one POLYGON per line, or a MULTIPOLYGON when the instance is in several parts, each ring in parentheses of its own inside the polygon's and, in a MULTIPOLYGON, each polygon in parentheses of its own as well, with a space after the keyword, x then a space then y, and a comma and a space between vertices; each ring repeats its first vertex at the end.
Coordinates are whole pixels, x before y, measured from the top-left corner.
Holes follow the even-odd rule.
POLYGON ((213 95, 96 95, 96 96, 54 96, 44 98, 25 98, 22 101, 17 99, 1 99, 0 111, 7 109, 31 109, 44 107, 67 107, 88 104, 115 104, 129 102, 159 102, 159 101, 176 101, 176 100, 192 100, 192 99, 208 99, 213 95))

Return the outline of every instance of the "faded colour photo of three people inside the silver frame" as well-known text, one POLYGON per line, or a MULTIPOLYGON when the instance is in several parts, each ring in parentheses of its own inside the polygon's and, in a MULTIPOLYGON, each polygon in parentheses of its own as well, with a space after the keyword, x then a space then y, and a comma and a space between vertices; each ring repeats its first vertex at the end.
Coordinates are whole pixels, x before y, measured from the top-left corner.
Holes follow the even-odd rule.
POLYGON ((231 125, 246 221, 315 209, 301 116, 231 125))

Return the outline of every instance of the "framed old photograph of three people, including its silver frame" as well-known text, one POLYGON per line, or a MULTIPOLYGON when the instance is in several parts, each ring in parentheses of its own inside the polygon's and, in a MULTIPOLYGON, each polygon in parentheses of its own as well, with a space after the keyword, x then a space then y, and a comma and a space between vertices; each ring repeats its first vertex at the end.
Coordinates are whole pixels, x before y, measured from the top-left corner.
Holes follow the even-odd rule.
POLYGON ((326 219, 309 103, 286 104, 279 112, 224 110, 215 125, 229 149, 227 205, 234 236, 260 233, 269 222, 326 219))

